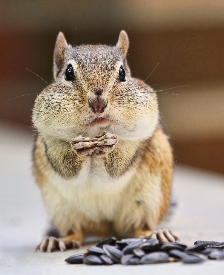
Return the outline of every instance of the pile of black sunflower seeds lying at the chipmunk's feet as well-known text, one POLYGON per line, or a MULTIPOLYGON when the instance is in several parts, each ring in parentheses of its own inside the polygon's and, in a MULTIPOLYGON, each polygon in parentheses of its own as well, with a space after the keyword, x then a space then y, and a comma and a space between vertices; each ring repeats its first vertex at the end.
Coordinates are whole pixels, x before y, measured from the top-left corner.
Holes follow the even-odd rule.
POLYGON ((224 242, 196 241, 194 246, 179 242, 159 243, 156 239, 111 237, 91 246, 85 253, 65 259, 69 264, 139 265, 167 262, 200 263, 224 260, 224 242))

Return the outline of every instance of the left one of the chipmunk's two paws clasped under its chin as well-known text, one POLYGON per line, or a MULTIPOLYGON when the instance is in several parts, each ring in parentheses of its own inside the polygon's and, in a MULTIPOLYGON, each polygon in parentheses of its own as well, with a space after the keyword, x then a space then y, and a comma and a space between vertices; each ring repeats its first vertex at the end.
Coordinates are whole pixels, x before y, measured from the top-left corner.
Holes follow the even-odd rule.
POLYGON ((96 146, 98 144, 97 137, 76 137, 71 140, 72 149, 74 149, 77 155, 82 157, 91 156, 96 150, 96 146))

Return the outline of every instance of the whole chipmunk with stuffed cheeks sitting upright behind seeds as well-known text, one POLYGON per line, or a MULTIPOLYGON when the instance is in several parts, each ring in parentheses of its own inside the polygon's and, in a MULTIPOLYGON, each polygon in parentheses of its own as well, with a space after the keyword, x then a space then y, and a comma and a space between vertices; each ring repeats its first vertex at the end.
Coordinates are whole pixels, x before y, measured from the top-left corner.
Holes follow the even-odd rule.
POLYGON ((36 98, 33 170, 60 238, 42 252, 80 247, 84 236, 157 238, 168 211, 173 155, 159 123, 156 92, 131 77, 129 39, 71 46, 60 32, 54 81, 36 98))

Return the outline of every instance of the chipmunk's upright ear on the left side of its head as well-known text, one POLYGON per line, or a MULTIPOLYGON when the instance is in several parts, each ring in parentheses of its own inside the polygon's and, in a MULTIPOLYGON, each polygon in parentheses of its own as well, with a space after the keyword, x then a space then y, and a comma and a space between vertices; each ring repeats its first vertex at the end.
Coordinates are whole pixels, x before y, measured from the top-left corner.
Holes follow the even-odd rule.
POLYGON ((62 65, 65 60, 65 51, 68 48, 68 43, 65 39, 65 36, 62 32, 59 32, 55 47, 54 47, 54 68, 53 68, 53 74, 54 79, 56 80, 59 72, 62 69, 62 65))

